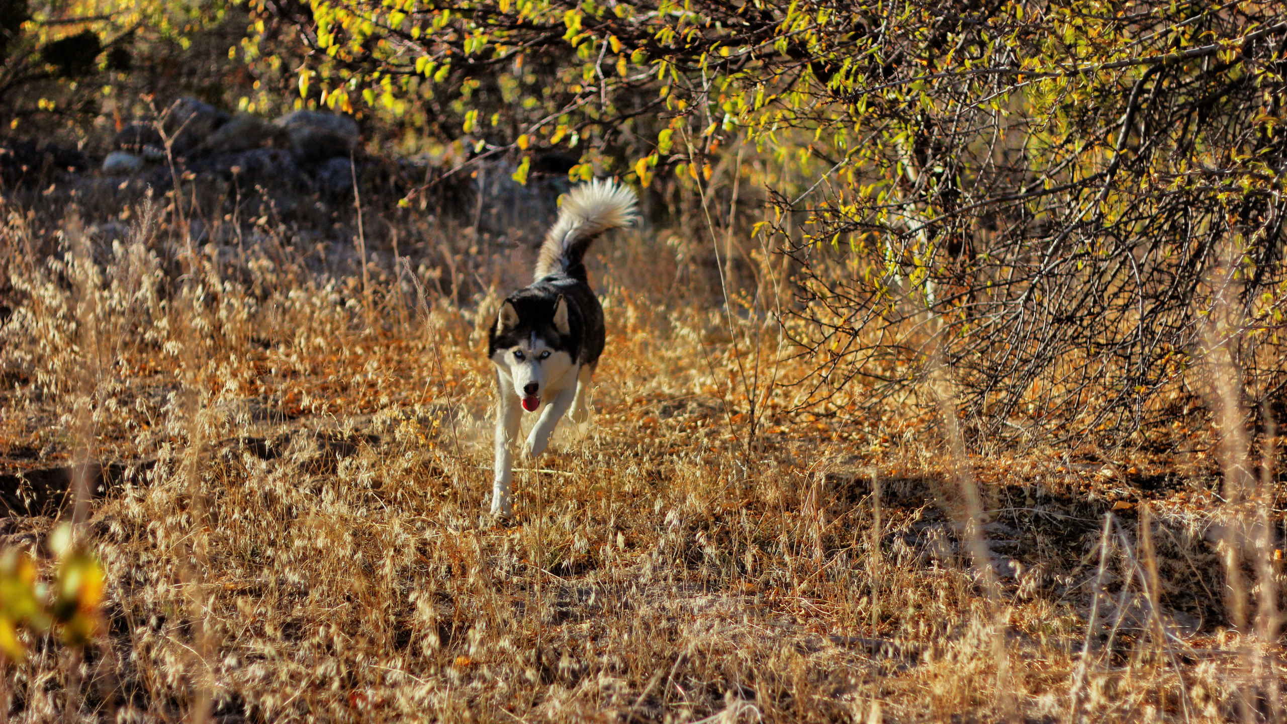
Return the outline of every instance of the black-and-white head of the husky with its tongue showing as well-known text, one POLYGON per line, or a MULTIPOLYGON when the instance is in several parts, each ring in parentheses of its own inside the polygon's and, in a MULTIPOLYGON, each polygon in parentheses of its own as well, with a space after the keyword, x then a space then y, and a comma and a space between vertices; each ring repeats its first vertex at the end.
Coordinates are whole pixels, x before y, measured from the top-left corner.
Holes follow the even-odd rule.
POLYGON ((550 383, 562 377, 573 366, 566 339, 568 300, 559 296, 553 304, 541 299, 506 299, 492 327, 492 362, 508 380, 523 408, 533 412, 541 406, 550 383))

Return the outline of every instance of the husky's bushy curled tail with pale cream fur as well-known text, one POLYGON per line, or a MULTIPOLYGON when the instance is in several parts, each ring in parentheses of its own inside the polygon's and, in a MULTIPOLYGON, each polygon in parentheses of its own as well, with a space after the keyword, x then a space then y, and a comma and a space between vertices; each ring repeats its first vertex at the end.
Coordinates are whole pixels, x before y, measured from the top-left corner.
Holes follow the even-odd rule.
POLYGON ((634 222, 638 218, 634 206, 637 201, 629 187, 610 180, 595 179, 571 189, 559 209, 559 220, 550 227, 546 241, 541 245, 537 280, 555 272, 584 276, 575 271, 580 267, 589 242, 607 229, 634 222))

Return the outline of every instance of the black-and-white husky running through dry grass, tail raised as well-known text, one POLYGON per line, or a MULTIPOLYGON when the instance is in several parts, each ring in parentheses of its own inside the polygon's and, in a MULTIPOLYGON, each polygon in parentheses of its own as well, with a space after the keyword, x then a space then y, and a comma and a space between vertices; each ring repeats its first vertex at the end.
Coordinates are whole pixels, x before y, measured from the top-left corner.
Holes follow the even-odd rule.
POLYGON ((510 515, 515 439, 523 410, 542 410, 528 452, 544 452, 560 417, 589 419, 589 379, 604 352, 604 308, 586 278, 582 258, 595 238, 636 219, 634 192, 609 180, 571 189, 546 233, 535 281, 501 304, 488 341, 495 365, 495 483, 492 514, 510 515))

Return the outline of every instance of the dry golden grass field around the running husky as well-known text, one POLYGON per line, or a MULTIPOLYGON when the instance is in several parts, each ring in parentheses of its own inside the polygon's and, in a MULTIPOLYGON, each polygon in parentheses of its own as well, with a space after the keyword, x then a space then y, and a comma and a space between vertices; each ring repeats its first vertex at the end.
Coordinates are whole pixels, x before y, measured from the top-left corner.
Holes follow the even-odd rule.
MULTIPOLYGON (((124 466, 84 527, 104 633, 5 663, 14 721, 1287 716, 1273 470, 1234 506, 1201 451, 985 459, 900 410, 786 414, 768 381, 806 362, 767 296, 726 314, 665 231, 598 247, 595 423, 501 524, 480 349, 528 250, 425 223, 405 268, 368 237, 363 283, 282 228, 135 210, 113 246, 68 216, 46 258, 4 211, 3 472, 124 466)), ((37 493, 5 545, 73 514, 37 493)))

